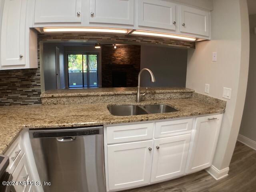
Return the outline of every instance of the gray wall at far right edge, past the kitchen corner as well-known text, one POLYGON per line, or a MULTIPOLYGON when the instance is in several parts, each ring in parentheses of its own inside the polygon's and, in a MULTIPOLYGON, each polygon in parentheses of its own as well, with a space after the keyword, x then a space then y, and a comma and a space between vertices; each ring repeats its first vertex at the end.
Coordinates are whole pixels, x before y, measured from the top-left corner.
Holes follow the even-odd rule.
POLYGON ((250 62, 244 113, 239 134, 256 141, 256 14, 249 16, 250 22, 250 62))

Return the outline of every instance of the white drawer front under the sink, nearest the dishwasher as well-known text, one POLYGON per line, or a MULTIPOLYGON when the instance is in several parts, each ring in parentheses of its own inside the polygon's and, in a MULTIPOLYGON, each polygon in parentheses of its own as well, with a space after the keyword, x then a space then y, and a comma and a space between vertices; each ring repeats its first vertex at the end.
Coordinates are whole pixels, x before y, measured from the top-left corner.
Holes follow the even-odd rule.
POLYGON ((109 126, 107 143, 133 142, 153 138, 154 123, 109 126))

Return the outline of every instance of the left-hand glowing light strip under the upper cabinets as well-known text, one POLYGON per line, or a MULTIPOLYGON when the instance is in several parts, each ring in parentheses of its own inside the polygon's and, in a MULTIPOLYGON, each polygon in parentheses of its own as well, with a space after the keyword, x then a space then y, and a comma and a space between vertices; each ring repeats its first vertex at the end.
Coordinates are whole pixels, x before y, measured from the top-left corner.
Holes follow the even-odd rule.
POLYGON ((43 28, 44 32, 102 32, 102 33, 122 33, 127 34, 127 29, 116 28, 85 28, 85 27, 47 27, 43 28))

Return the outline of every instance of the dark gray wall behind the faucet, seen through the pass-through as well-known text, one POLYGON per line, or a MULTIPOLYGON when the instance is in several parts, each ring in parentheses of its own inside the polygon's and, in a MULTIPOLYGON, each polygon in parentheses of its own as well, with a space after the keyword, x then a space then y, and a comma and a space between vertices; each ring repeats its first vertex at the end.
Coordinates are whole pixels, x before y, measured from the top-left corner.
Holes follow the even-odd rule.
POLYGON ((140 69, 149 68, 156 82, 150 82, 150 75, 143 72, 141 86, 164 87, 186 86, 187 50, 157 46, 141 46, 140 69))

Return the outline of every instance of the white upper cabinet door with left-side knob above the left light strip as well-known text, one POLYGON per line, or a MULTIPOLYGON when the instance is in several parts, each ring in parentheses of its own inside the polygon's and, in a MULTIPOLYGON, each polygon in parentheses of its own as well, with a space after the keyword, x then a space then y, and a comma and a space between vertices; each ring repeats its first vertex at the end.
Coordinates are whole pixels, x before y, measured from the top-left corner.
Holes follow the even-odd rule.
POLYGON ((89 22, 133 25, 134 0, 90 0, 89 22))

